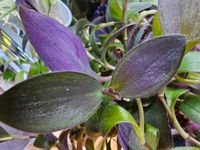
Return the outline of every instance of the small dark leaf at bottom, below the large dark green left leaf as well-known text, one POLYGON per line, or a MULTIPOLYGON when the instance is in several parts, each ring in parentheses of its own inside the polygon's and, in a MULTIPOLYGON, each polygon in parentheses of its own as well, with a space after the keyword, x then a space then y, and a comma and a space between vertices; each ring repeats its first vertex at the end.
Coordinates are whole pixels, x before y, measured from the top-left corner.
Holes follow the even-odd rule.
POLYGON ((39 134, 33 143, 35 147, 48 149, 51 148, 52 144, 43 134, 39 134))

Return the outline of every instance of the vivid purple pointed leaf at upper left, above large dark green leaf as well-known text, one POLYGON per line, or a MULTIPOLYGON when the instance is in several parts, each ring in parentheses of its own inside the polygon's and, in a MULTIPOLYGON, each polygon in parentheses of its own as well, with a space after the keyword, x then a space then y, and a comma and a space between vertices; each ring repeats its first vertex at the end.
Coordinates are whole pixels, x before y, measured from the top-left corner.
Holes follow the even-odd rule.
POLYGON ((81 40, 65 26, 34 10, 20 7, 24 28, 34 49, 52 71, 95 76, 81 40))

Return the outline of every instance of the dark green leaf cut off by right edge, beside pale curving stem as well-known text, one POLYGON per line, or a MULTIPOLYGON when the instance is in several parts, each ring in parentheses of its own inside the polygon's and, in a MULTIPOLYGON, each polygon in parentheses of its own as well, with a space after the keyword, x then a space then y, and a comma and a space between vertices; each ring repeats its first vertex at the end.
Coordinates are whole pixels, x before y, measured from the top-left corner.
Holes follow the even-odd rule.
POLYGON ((200 124, 200 96, 186 96, 179 108, 187 117, 200 124))

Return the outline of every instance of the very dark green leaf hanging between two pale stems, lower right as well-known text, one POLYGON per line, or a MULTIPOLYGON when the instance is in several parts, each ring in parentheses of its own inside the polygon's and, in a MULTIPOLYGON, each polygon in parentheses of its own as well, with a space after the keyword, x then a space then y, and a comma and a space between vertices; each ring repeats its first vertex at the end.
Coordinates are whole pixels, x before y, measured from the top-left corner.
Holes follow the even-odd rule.
POLYGON ((157 149, 169 149, 173 146, 171 130, 165 109, 159 101, 159 97, 151 97, 152 104, 144 110, 145 123, 159 130, 159 142, 157 149))

